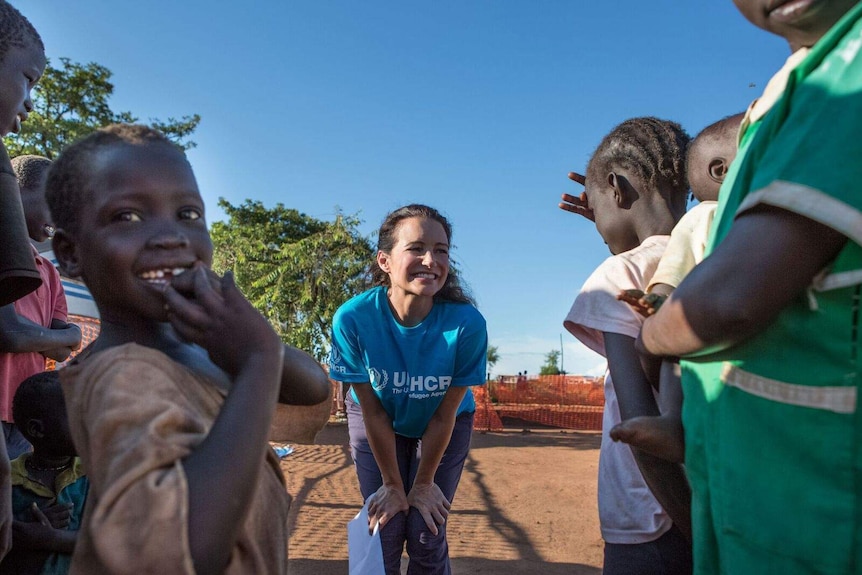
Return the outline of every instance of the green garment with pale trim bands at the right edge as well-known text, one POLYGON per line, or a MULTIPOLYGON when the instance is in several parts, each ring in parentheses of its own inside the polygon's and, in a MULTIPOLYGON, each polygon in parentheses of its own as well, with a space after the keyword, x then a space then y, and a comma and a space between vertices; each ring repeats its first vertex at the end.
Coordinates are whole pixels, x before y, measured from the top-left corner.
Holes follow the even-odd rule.
POLYGON ((798 213, 848 241, 757 336, 682 362, 699 573, 862 566, 860 48, 862 4, 812 47, 780 99, 749 126, 721 189, 707 254, 738 214, 758 205, 798 213))

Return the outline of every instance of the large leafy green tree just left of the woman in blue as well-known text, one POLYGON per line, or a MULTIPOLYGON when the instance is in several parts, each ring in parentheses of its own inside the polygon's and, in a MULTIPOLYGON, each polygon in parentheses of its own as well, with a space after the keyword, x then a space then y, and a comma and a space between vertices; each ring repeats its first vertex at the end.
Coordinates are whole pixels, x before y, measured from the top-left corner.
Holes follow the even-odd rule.
POLYGON ((321 221, 253 200, 234 206, 222 198, 219 206, 228 220, 210 231, 213 269, 232 270, 282 340, 322 361, 335 310, 369 287, 374 252, 358 231, 361 221, 340 211, 321 221))

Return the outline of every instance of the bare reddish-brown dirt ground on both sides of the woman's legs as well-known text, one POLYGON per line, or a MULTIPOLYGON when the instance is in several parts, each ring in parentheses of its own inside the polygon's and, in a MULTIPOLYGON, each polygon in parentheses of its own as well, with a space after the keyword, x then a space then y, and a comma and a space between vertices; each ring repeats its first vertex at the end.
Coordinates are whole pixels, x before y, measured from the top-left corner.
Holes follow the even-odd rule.
MULTIPOLYGON (((456 575, 601 573, 596 509, 600 434, 520 429, 474 433, 453 513, 456 575)), ((362 497, 347 425, 282 460, 291 509, 291 575, 346 575, 347 522, 362 497)), ((406 560, 405 563, 406 565, 406 560)))

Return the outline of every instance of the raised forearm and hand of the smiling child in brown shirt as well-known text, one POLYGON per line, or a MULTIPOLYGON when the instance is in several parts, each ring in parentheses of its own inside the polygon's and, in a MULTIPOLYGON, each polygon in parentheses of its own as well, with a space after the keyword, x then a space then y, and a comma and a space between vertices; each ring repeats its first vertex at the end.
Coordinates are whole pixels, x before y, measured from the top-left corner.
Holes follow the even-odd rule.
POLYGON ((233 383, 206 439, 183 460, 192 561, 198 573, 220 573, 230 558, 268 449, 283 346, 230 274, 216 290, 203 266, 186 273, 194 274, 194 300, 168 287, 168 318, 181 336, 206 349, 233 383), (226 461, 229 473, 224 473, 226 461))

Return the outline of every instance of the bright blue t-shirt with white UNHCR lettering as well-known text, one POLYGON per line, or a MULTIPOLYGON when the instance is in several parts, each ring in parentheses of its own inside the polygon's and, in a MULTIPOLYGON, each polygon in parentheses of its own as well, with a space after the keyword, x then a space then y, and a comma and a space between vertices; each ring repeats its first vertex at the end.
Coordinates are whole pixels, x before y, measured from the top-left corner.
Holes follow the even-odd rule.
MULTIPOLYGON (((485 383, 487 349, 485 318, 472 305, 435 302, 420 324, 405 327, 392 315, 386 288, 376 287, 335 313, 329 376, 370 383, 395 433, 419 438, 450 386, 485 383)), ((458 413, 475 409, 467 390, 458 413)))

